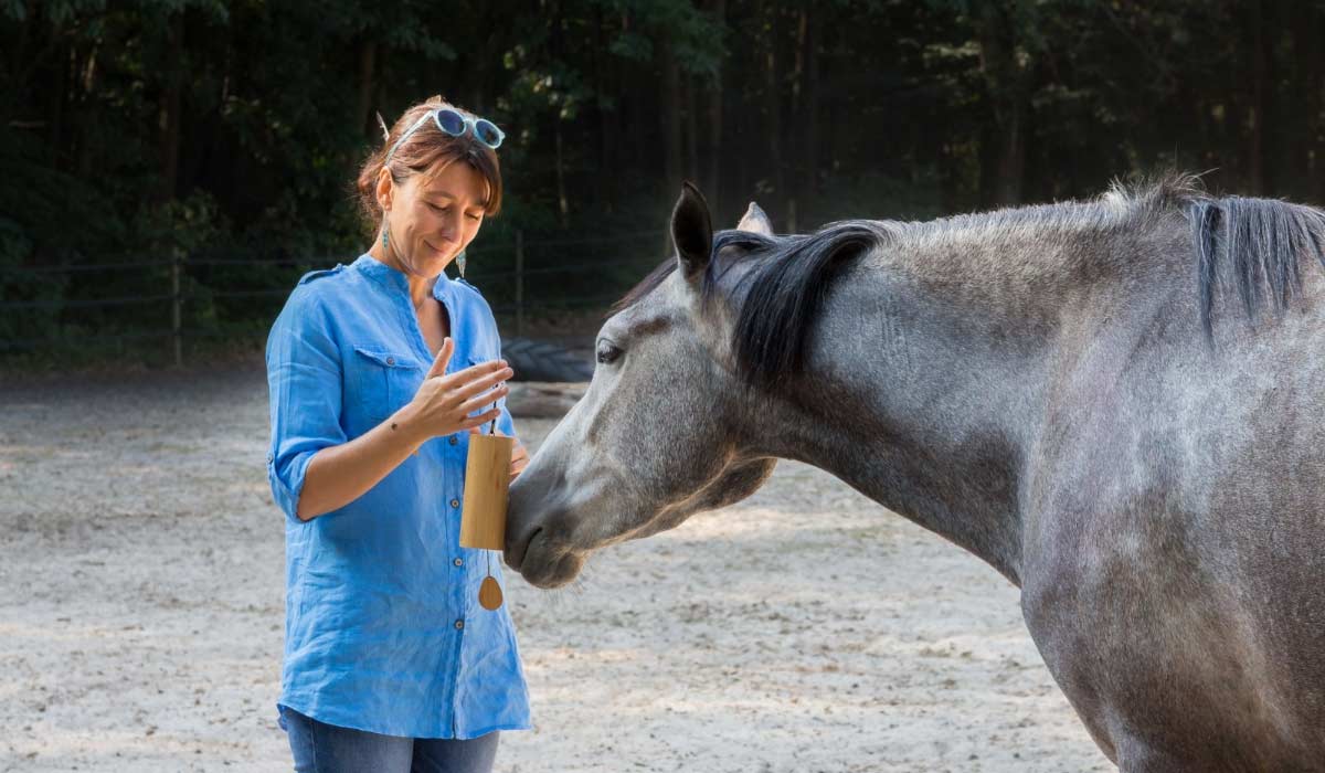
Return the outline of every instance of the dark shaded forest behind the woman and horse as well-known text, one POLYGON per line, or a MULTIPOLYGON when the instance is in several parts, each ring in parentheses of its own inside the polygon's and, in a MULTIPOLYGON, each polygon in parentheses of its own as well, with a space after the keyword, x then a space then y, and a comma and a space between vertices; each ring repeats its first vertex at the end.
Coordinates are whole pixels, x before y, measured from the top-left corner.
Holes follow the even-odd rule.
POLYGON ((1320 204, 1322 38, 1265 0, 0 0, 0 354, 119 351, 176 297, 260 342, 366 248, 375 113, 437 93, 507 131, 470 278, 507 324, 518 239, 535 330, 661 259, 682 179, 784 232, 1170 167, 1320 204))

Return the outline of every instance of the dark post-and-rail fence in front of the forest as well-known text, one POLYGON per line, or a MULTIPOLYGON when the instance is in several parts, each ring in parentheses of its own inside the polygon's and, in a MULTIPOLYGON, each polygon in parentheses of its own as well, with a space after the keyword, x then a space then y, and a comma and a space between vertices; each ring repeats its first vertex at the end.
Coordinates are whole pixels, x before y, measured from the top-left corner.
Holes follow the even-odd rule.
MULTIPOLYGON (((549 310, 572 310, 572 309, 587 309, 587 308, 607 308, 608 304, 620 297, 620 293, 604 293, 595 292, 592 294, 579 294, 579 296, 562 296, 562 297, 531 297, 527 292, 526 280, 530 277, 541 280, 551 274, 575 274, 575 273, 588 273, 588 272, 602 272, 608 268, 639 268, 640 277, 643 272, 647 272, 652 267, 657 265, 659 257, 613 257, 598 261, 576 261, 564 263, 555 265, 539 265, 534 268, 525 267, 526 252, 530 248, 537 248, 539 251, 550 248, 575 248, 586 245, 598 247, 611 247, 613 244, 635 244, 644 245, 644 252, 653 255, 656 247, 661 244, 664 239, 664 231, 641 231, 633 233, 617 233, 608 236, 586 236, 576 239, 549 239, 539 240, 531 244, 525 243, 525 235, 517 231, 514 235, 514 241, 506 245, 484 245, 481 248, 470 249, 468 253, 470 256, 494 256, 506 253, 513 256, 514 268, 493 272, 482 272, 481 281, 485 288, 493 286, 493 282, 509 281, 511 290, 511 302, 497 302, 492 304, 492 309, 497 314, 511 314, 514 316, 514 333, 517 337, 523 335, 526 331, 526 325, 531 314, 537 312, 549 310)), ((170 317, 168 326, 167 318, 162 318, 162 327, 155 330, 130 330, 110 334, 82 334, 77 337, 78 345, 94 345, 94 343, 109 343, 109 342, 129 342, 129 341, 152 341, 152 339, 170 339, 172 347, 172 358, 176 366, 182 366, 184 361, 183 342, 191 338, 209 338, 209 337, 225 337, 232 335, 233 331, 229 330, 213 330, 204 327, 189 327, 184 325, 184 310, 189 302, 200 300, 223 300, 223 298, 264 298, 264 297, 282 297, 288 296, 293 289, 293 285, 282 284, 282 286, 270 288, 253 288, 253 289, 233 289, 233 290, 211 290, 204 292, 189 292, 182 289, 188 278, 188 272, 191 269, 199 268, 212 268, 212 267, 236 267, 236 268, 281 268, 281 267, 299 267, 299 265, 315 265, 318 261, 310 261, 306 259, 278 259, 278 260, 242 260, 242 259, 225 259, 225 257, 186 257, 180 256, 174 260, 139 260, 139 261, 113 261, 102 264, 69 264, 69 265, 41 265, 41 267, 4 267, 0 265, 0 288, 5 286, 4 280, 15 276, 61 276, 61 274, 81 274, 87 272, 135 272, 135 270, 154 270, 166 269, 168 272, 168 289, 170 292, 162 293, 143 293, 143 294, 117 294, 105 297, 90 297, 90 298, 38 298, 38 300, 17 300, 8 301, 0 298, 0 314, 23 314, 40 310, 56 310, 65 312, 73 309, 98 309, 98 308, 114 308, 114 306, 148 306, 151 304, 170 304, 170 317)), ((335 261, 322 261, 325 264, 334 264, 335 261)), ((602 290, 602 285, 595 286, 596 290, 602 290)), ((24 350, 34 350, 49 346, 72 345, 73 341, 66 339, 64 335, 45 335, 37 338, 0 338, 0 355, 12 354, 24 350)))

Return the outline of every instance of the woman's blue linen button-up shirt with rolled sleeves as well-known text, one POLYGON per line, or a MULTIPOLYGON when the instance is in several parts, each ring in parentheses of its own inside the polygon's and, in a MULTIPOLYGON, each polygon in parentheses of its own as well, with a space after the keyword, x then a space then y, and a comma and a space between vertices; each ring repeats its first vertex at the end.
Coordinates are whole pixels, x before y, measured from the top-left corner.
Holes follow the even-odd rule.
MULTIPOLYGON (((447 373, 501 355, 492 309, 437 277, 447 373)), ((432 365, 405 276, 363 255, 299 280, 266 342, 272 495, 285 510, 285 654, 277 703, 327 724, 416 739, 530 727, 506 606, 478 606, 500 556, 460 546, 468 432, 431 438, 350 504, 301 521, 313 455, 408 403, 432 365)), ((514 436, 505 404, 497 428, 514 436)), ((486 426, 485 426, 486 430, 486 426)))

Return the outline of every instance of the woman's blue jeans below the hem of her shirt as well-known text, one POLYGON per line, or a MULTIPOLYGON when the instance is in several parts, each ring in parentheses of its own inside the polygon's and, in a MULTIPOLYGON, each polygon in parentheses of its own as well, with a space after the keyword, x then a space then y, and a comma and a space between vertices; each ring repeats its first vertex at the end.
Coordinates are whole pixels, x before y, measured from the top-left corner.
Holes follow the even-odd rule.
POLYGON ((280 712, 295 773, 489 773, 497 758, 496 732, 465 741, 408 739, 329 725, 285 705, 280 712))

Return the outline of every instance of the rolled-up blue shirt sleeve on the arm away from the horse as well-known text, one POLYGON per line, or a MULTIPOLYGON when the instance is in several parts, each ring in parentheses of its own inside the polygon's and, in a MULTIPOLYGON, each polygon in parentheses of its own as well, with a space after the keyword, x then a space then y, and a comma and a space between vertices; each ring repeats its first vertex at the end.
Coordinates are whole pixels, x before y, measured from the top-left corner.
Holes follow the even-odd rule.
POLYGON ((301 524, 295 513, 309 461, 322 448, 346 442, 339 347, 325 308, 307 290, 295 288, 266 339, 268 480, 276 504, 301 524))

